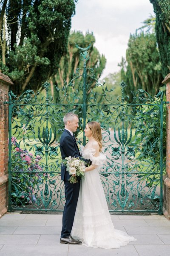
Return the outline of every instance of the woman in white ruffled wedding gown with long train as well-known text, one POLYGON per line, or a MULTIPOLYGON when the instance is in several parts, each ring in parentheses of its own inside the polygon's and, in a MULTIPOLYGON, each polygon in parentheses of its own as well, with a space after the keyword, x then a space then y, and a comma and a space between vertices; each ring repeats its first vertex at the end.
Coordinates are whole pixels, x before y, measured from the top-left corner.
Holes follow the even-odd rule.
POLYGON ((99 169, 106 157, 102 151, 102 132, 98 122, 88 122, 85 128, 88 143, 82 149, 82 157, 90 159, 92 165, 86 167, 85 178, 81 180, 79 199, 71 235, 79 238, 88 247, 105 249, 119 248, 136 241, 125 232, 113 226, 105 193, 100 181, 99 169))

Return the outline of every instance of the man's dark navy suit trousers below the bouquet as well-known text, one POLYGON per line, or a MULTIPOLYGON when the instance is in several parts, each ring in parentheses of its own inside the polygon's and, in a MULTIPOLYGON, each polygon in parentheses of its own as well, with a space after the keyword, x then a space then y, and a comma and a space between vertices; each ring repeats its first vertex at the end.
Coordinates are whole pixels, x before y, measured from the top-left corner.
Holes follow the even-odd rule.
POLYGON ((64 180, 65 185, 65 206, 62 215, 62 232, 61 237, 68 237, 74 222, 74 215, 76 212, 77 201, 79 198, 80 180, 77 183, 70 183, 64 180))

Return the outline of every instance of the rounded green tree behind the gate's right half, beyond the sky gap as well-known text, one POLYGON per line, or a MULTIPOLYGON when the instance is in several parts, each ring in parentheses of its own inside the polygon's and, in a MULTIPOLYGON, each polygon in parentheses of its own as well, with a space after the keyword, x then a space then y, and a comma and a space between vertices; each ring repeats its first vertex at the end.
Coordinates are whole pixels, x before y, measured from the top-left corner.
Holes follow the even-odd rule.
POLYGON ((127 83, 126 92, 143 89, 154 96, 163 79, 156 37, 153 33, 130 35, 126 52, 126 61, 122 60, 122 79, 127 83), (125 67, 125 64, 127 65, 125 67))

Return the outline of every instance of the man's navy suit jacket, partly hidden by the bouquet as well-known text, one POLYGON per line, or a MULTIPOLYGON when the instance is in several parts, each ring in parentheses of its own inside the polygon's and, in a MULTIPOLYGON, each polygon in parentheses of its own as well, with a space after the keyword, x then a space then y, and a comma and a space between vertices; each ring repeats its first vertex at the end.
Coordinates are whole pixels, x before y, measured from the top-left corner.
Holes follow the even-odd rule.
MULTIPOLYGON (((79 148, 77 146, 76 141, 74 140, 74 137, 71 136, 70 132, 68 130, 64 130, 61 139, 59 142, 60 151, 62 159, 65 159, 65 157, 79 157, 80 159, 84 160, 85 162, 88 162, 88 160, 82 158, 80 156, 79 148)), ((66 166, 61 166, 61 179, 62 180, 69 180, 71 175, 69 175, 68 171, 66 170, 66 166)))

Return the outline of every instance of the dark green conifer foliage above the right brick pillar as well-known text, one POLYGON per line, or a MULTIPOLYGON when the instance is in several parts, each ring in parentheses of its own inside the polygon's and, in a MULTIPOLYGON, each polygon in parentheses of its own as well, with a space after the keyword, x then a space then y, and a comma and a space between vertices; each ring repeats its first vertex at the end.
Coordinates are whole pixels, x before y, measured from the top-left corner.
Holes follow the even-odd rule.
POLYGON ((170 0, 150 0, 150 3, 156 13, 156 40, 165 77, 170 72, 170 0))

